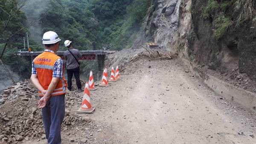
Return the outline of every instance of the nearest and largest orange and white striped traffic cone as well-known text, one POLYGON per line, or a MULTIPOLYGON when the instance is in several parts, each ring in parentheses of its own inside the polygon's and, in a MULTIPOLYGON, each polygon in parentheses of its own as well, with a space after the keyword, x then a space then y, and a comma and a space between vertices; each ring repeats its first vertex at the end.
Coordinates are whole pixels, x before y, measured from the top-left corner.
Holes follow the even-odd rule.
POLYGON ((90 90, 89 84, 86 82, 84 88, 84 96, 81 107, 77 110, 77 113, 93 113, 95 108, 92 107, 90 103, 90 90))

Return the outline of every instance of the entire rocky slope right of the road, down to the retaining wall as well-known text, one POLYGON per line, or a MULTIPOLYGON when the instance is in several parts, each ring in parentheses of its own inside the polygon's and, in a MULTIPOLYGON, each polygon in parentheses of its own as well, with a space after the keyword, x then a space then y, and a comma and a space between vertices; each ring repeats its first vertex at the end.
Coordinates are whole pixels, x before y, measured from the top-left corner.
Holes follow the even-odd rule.
POLYGON ((235 1, 154 0, 134 47, 154 42, 230 84, 256 91, 256 3, 248 0, 236 12, 235 1), (246 17, 242 8, 251 9, 252 18, 239 21, 239 14, 246 17))

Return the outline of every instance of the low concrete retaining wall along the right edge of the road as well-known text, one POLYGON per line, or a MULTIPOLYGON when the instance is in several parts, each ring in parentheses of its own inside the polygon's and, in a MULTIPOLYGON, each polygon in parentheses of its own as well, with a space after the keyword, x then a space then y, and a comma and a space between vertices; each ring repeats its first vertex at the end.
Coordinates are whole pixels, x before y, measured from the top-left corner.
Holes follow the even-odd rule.
POLYGON ((227 84, 226 82, 221 81, 218 78, 215 78, 212 75, 208 75, 207 73, 195 67, 194 64, 191 63, 189 60, 186 60, 184 58, 181 58, 181 60, 187 67, 189 67, 191 72, 196 77, 202 78, 204 80, 204 83, 207 84, 213 91, 246 109, 250 109, 251 111, 256 112, 255 93, 237 88, 231 84, 227 84))

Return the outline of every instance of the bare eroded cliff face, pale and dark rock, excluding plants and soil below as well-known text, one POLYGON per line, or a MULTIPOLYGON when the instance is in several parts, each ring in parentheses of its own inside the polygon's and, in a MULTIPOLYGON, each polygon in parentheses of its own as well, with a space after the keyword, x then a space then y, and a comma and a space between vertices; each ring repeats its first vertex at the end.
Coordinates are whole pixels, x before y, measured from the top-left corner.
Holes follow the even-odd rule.
MULTIPOLYGON (((221 6, 222 2, 216 3, 221 6)), ((256 80, 256 27, 246 22, 239 28, 230 26, 216 38, 213 20, 221 12, 212 10, 203 18, 206 5, 206 0, 154 0, 143 35, 136 43, 154 42, 221 74, 238 69, 256 80)), ((232 10, 233 4, 225 12, 230 14, 232 10)), ((237 14, 230 15, 234 25, 237 14)))

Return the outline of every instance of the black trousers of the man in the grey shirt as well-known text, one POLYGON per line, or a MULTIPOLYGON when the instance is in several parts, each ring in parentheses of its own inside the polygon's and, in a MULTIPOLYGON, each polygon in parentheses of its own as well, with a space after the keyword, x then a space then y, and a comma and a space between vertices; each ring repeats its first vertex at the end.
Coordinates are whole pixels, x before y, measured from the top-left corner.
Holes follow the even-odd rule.
POLYGON ((77 67, 75 69, 67 69, 67 89, 72 89, 72 77, 73 77, 73 74, 76 78, 76 85, 77 85, 77 88, 78 89, 81 89, 82 86, 81 86, 81 81, 80 81, 80 78, 79 78, 79 72, 80 72, 80 68, 77 67))

